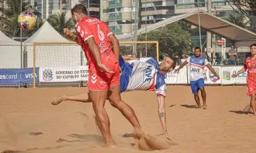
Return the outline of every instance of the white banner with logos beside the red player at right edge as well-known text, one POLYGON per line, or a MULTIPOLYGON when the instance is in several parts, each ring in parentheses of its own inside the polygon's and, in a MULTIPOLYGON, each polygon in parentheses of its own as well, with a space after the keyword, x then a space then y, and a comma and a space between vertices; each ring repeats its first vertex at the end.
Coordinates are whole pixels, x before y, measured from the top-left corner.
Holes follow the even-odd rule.
POLYGON ((242 66, 222 67, 222 84, 246 84, 247 72, 240 74, 235 79, 232 77, 240 69, 242 69, 242 66))

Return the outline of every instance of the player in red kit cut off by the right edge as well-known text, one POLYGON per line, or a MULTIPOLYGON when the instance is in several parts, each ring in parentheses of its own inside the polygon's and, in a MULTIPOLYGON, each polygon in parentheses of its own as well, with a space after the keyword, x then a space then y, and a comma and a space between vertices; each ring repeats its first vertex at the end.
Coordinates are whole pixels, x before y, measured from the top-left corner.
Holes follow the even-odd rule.
POLYGON ((247 95, 250 95, 250 106, 253 109, 255 116, 255 98, 256 98, 256 44, 250 45, 250 57, 246 58, 245 65, 232 77, 237 77, 239 74, 246 72, 247 69, 247 95))

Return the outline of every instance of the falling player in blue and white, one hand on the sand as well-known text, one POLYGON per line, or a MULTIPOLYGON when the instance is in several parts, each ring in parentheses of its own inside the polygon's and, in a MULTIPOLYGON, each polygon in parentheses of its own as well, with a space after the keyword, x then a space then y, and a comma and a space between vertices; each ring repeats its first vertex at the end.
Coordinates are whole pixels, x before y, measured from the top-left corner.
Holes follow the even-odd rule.
MULTIPOLYGON (((174 61, 166 57, 160 65, 158 61, 151 57, 119 57, 119 65, 122 69, 120 76, 120 92, 143 90, 155 91, 158 100, 158 114, 162 124, 164 134, 170 139, 166 128, 166 73, 173 70, 174 61)), ((51 100, 54 105, 60 104, 63 100, 78 101, 90 103, 88 93, 82 93, 74 96, 60 96, 51 100)), ((111 101, 110 101, 111 104, 111 101)))

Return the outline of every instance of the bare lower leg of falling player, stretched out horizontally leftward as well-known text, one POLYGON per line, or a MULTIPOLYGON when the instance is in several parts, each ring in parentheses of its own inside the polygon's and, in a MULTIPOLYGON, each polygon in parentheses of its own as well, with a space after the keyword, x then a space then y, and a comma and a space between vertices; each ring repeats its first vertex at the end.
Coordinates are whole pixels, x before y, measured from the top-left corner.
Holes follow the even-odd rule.
POLYGON ((59 96, 57 98, 54 98, 51 100, 51 104, 53 105, 58 105, 60 103, 62 103, 62 101, 77 101, 77 102, 82 102, 82 103, 91 103, 91 99, 88 93, 81 93, 78 95, 72 95, 72 96, 59 96))

